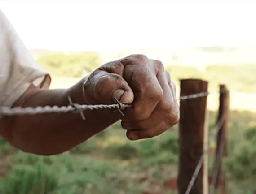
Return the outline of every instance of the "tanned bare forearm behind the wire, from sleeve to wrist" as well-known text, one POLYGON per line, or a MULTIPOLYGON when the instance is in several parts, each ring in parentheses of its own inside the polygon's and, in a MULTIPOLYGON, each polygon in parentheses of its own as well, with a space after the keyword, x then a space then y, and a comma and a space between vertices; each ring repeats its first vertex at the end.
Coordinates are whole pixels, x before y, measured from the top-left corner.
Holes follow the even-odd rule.
MULTIPOLYGON (((84 104, 81 88, 82 82, 69 89, 36 89, 15 106, 67 106, 68 96, 74 103, 84 104)), ((85 110, 84 116, 85 120, 72 112, 6 116, 0 121, 0 131, 10 144, 22 151, 53 155, 70 150, 118 121, 117 112, 110 110, 85 110)))

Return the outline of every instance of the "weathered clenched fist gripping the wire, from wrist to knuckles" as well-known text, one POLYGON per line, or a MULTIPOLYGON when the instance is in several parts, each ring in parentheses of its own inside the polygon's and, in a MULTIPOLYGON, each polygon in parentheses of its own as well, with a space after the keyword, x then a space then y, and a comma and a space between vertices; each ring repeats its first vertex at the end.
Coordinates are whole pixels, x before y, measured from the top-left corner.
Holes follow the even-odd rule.
POLYGON ((151 138, 177 124, 176 87, 159 60, 131 55, 100 66, 84 82, 89 104, 132 103, 121 125, 130 140, 151 138))

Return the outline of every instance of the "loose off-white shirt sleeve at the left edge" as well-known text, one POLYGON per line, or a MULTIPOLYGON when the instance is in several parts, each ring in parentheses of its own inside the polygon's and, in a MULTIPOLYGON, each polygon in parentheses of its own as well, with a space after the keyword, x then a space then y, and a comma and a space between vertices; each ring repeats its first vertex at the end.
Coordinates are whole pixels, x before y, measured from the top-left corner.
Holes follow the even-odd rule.
POLYGON ((48 88, 50 82, 0 10, 0 106, 12 106, 32 83, 48 88))

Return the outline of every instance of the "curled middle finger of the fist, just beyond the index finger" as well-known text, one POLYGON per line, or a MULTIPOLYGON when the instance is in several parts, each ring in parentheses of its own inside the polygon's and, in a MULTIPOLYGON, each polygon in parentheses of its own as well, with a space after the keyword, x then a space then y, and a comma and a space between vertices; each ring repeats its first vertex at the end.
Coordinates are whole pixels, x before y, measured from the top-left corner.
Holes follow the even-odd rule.
MULTIPOLYGON (((143 121, 122 121, 121 125, 126 130, 146 130, 152 128, 162 122, 163 119, 172 112, 173 109, 173 91, 168 85, 169 77, 162 69, 157 73, 158 82, 163 90, 163 99, 157 104, 150 117, 143 121)), ((176 118, 173 118, 176 119, 176 118)))

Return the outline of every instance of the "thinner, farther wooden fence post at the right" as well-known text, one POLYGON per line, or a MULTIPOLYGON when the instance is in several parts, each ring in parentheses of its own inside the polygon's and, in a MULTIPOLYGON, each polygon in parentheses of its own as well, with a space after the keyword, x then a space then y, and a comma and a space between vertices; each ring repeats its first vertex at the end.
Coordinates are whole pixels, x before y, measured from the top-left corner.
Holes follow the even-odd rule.
POLYGON ((223 125, 217 134, 216 139, 216 160, 214 167, 218 166, 217 176, 216 176, 216 184, 215 188, 218 188, 221 185, 221 194, 225 194, 225 179, 222 172, 222 159, 223 155, 227 156, 227 122, 229 116, 229 92, 225 85, 220 85, 220 104, 219 104, 219 112, 217 117, 217 123, 223 116, 223 125), (221 142, 224 143, 223 154, 221 154, 220 150, 222 148, 221 142))

